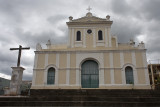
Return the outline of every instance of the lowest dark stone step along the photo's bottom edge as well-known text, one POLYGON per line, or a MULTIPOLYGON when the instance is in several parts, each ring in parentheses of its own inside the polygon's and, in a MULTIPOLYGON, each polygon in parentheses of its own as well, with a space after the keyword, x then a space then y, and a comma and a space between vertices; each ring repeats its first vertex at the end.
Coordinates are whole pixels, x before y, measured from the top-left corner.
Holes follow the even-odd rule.
POLYGON ((23 101, 3 102, 0 106, 98 106, 98 107, 159 107, 160 102, 108 102, 108 101, 23 101))

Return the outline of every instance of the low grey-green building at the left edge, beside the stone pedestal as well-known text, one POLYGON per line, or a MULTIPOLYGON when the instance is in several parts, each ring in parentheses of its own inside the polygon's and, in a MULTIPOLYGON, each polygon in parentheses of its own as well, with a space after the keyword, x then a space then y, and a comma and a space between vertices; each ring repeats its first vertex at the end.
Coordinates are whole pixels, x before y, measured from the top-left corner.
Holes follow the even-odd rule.
POLYGON ((4 88, 10 86, 10 80, 0 77, 0 95, 4 94, 4 88))

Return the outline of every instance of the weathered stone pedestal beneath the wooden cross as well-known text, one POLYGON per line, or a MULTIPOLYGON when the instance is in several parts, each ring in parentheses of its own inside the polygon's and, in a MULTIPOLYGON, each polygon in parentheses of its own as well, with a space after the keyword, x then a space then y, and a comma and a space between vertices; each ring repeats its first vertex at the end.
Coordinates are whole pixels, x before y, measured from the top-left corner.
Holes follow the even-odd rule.
POLYGON ((22 84, 23 67, 11 67, 12 77, 10 82, 10 95, 20 95, 20 86, 22 84))

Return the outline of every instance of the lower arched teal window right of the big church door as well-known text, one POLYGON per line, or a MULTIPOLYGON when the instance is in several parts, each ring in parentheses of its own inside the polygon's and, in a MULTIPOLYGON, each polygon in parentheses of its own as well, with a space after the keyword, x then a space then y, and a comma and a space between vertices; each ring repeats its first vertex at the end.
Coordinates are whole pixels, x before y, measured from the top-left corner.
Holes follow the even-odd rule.
POLYGON ((130 66, 125 68, 126 84, 134 84, 133 69, 130 66))

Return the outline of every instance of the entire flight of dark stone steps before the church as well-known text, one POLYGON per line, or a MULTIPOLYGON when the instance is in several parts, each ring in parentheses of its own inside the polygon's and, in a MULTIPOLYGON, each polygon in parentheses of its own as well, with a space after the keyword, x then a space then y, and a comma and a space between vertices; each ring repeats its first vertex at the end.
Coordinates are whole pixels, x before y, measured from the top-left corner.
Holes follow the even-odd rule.
POLYGON ((0 106, 160 107, 153 90, 31 90, 27 97, 0 97, 0 106))

